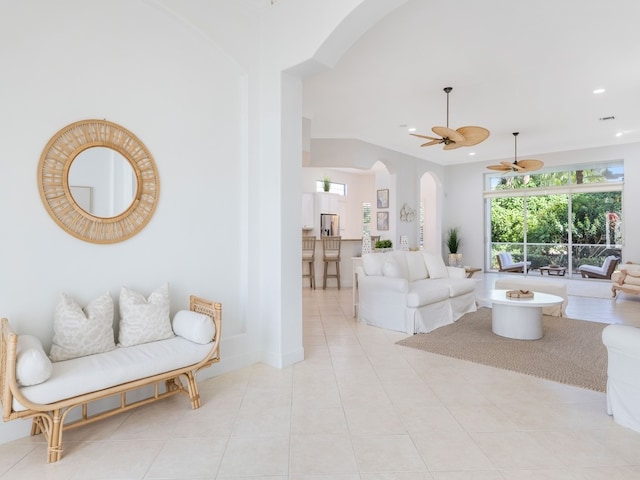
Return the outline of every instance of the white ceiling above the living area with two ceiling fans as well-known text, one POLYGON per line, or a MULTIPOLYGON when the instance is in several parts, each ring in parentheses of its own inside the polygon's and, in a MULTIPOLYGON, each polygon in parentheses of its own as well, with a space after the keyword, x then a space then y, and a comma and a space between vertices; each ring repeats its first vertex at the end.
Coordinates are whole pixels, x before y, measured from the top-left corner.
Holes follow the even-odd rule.
POLYGON ((515 131, 521 159, 640 142, 640 2, 410 0, 305 79, 303 105, 312 138, 357 138, 445 165, 512 157, 515 131), (421 148, 408 128, 446 125, 448 86, 449 126, 491 135, 421 148))

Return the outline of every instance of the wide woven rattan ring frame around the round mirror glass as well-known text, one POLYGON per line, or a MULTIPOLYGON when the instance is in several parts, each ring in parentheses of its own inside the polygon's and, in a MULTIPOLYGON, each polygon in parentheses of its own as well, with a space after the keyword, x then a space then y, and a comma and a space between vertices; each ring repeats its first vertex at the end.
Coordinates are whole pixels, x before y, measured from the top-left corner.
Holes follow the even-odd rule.
MULTIPOLYGON (((99 175, 98 175, 99 176, 99 175)), ((107 120, 81 120, 57 132, 40 156, 40 197, 51 217, 67 233, 92 243, 116 243, 142 230, 155 211, 160 180, 153 157, 126 128, 107 120), (114 216, 98 216, 72 194, 69 173, 74 160, 94 147, 120 154, 132 171, 131 203, 114 216)), ((90 188, 90 187, 89 187, 90 188)))

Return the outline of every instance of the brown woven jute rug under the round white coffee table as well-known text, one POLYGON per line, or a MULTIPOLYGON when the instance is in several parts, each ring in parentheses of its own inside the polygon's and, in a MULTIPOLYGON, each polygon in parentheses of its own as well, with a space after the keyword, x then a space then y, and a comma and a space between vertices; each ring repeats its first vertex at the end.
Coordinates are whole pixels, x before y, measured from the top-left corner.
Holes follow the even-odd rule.
POLYGON ((491 309, 480 308, 452 325, 412 335, 398 345, 605 392, 604 323, 543 316, 540 340, 504 338, 491 331, 491 309))

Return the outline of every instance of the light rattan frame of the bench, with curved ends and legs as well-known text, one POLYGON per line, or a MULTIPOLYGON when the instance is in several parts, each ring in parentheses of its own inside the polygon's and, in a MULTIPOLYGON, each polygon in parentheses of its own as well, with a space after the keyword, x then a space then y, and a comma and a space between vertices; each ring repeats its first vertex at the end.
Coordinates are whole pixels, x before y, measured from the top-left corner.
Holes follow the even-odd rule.
MULTIPOLYGON (((64 431, 76 428, 82 425, 96 422, 98 420, 111 417, 121 412, 131 410, 141 405, 146 405, 163 398, 173 396, 177 393, 185 393, 191 400, 191 408, 196 409, 200 407, 200 395, 198 393, 198 385, 196 383, 196 374, 199 370, 209 367, 214 363, 220 361, 219 347, 220 347, 220 332, 222 323, 222 305, 217 302, 211 302, 196 296, 190 297, 190 310, 197 313, 202 313, 209 316, 214 324, 215 334, 210 343, 206 345, 198 345, 189 340, 176 337, 177 342, 183 349, 191 348, 189 343, 193 344, 193 352, 198 349, 198 352, 203 352, 201 359, 198 361, 191 361, 188 365, 180 366, 179 368, 172 369, 170 371, 156 372, 152 375, 136 378, 125 383, 119 383, 115 385, 109 385, 97 391, 88 391, 77 393, 68 398, 62 398, 58 401, 51 403, 37 403, 30 400, 28 394, 28 388, 20 387, 16 379, 16 357, 17 357, 17 345, 18 335, 13 332, 9 321, 6 318, 1 320, 1 335, 0 335, 0 389, 2 399, 2 415, 4 421, 15 420, 17 418, 32 419, 31 434, 37 435, 43 433, 48 442, 47 448, 47 462, 56 462, 60 460, 62 456, 62 434, 64 431), (183 384, 180 377, 183 377, 183 384), (147 397, 128 402, 127 393, 133 390, 138 390, 143 387, 153 386, 153 392, 148 394, 147 397), (95 402, 96 400, 105 399, 108 397, 119 396, 120 404, 115 408, 111 408, 106 411, 89 414, 88 404, 95 402), (76 407, 81 408, 80 418, 74 421, 66 422, 65 419, 69 412, 76 407)), ((152 342, 151 348, 156 348, 158 355, 166 357, 167 349, 171 348, 171 343, 174 339, 160 340, 152 342)), ((147 346, 149 344, 146 344, 147 346)), ((136 350, 141 346, 126 347, 126 358, 136 358, 136 350)), ((149 347, 145 347, 149 348, 149 347)), ((125 349, 118 349, 124 351, 125 349)), ((192 352, 192 353, 193 353, 192 352)), ((116 352, 117 355, 123 352, 116 352)), ((92 362, 100 362, 102 355, 109 355, 111 352, 99 353, 92 355, 92 362)), ((193 356, 193 355, 192 355, 193 356)), ((145 358, 145 355, 141 355, 140 359, 145 358)), ((105 357, 106 358, 106 357, 105 357)), ((113 356, 110 361, 113 361, 113 356)), ((148 359, 146 361, 154 361, 154 359, 148 359)), ((73 362, 69 360, 68 362, 73 362)), ((67 362, 59 362, 67 363, 67 362)), ((88 365, 89 363, 77 362, 77 365, 88 365)), ((73 370, 74 364, 67 364, 71 366, 73 370)), ((129 367, 129 365, 127 365, 129 367)), ((127 368, 128 369, 128 368, 127 368)), ((66 372, 69 373, 68 371, 66 372)), ((86 375, 90 373, 92 375, 103 374, 104 372, 73 372, 71 374, 86 375)), ((55 377, 55 373, 54 376, 55 377)), ((52 379, 53 379, 52 377, 52 379)), ((52 381, 52 379, 46 382, 52 381)), ((45 382, 45 383, 46 383, 45 382)), ((61 397, 64 397, 62 392, 61 397)))

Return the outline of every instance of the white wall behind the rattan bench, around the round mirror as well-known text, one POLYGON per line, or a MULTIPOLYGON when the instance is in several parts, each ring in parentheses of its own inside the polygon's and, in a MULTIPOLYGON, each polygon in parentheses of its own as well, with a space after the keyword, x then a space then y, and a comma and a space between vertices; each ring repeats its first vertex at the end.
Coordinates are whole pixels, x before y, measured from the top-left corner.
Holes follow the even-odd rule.
MULTIPOLYGON (((144 1, 2 2, 0 45, 0 316, 48 346, 61 292, 86 304, 105 291, 117 300, 122 285, 148 294, 168 281, 173 311, 188 307, 189 294, 223 303, 223 361, 205 376, 259 358, 244 340, 238 248, 247 223, 243 70, 144 1), (129 129, 157 164, 156 212, 122 243, 65 233, 38 194, 43 148, 88 118, 129 129)), ((0 424, 0 441, 26 430, 0 424)))

